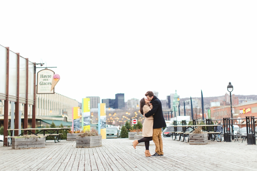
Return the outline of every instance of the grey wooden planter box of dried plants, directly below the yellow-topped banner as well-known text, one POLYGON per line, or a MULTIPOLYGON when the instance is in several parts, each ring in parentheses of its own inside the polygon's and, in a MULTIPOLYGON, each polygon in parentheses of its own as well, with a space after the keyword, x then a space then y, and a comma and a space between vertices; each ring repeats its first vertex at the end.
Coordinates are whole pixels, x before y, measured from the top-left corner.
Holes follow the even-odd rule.
POLYGON ((76 136, 76 147, 98 147, 102 146, 102 135, 91 137, 76 136))

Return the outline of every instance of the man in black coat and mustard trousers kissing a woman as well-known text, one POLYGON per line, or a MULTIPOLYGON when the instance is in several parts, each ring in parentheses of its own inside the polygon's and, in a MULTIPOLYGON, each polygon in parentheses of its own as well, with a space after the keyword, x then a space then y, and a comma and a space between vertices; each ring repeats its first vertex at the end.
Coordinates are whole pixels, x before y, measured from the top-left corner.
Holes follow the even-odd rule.
POLYGON ((154 95, 152 91, 145 93, 146 98, 152 103, 153 108, 144 114, 146 118, 153 115, 154 125, 153 125, 153 141, 155 143, 155 154, 151 157, 163 156, 163 143, 161 138, 161 128, 166 127, 165 119, 162 113, 162 107, 160 100, 154 95))

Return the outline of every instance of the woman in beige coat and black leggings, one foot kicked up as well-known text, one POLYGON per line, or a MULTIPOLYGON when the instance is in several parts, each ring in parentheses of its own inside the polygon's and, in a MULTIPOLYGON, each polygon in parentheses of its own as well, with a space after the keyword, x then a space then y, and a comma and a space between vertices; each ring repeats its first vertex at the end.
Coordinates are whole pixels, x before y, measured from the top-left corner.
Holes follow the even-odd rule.
MULTIPOLYGON (((149 112, 149 110, 151 110, 153 108, 152 105, 149 104, 149 100, 147 100, 147 98, 142 98, 140 100, 140 112, 141 114, 145 114, 147 112, 149 112)), ((144 119, 144 123, 143 123, 143 133, 142 136, 144 138, 139 139, 139 140, 135 140, 133 142, 133 147, 136 149, 136 146, 138 143, 144 142, 145 145, 145 156, 146 157, 150 157, 151 154, 149 152, 149 144, 150 141, 153 140, 153 124, 154 124, 154 117, 153 115, 145 118, 144 119)))

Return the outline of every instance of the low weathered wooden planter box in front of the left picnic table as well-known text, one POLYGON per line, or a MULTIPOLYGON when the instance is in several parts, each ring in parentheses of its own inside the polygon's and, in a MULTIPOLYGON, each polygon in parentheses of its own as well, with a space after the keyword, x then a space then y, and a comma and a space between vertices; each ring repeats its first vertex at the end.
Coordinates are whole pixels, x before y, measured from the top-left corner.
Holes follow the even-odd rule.
POLYGON ((45 137, 12 138, 12 149, 45 148, 45 137))

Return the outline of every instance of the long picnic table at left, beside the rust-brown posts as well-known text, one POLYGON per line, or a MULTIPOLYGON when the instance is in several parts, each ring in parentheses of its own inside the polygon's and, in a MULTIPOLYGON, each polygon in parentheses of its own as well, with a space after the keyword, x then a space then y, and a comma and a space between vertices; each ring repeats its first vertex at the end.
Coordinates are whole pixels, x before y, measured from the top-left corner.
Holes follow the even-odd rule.
MULTIPOLYGON (((18 136, 40 136, 40 137, 48 137, 48 136, 55 136, 55 143, 60 142, 60 137, 63 133, 59 133, 59 130, 66 130, 68 131, 71 128, 24 128, 24 129, 7 129, 11 132, 11 135, 13 135, 13 131, 16 130, 23 130, 24 132, 19 134, 18 136), (40 130, 38 133, 34 133, 33 130, 40 130), (24 133, 28 133, 25 135, 24 133)), ((65 132, 66 132, 65 131, 65 132)), ((7 136, 5 138, 8 138, 8 146, 12 144, 12 138, 18 137, 18 136, 7 136)))

